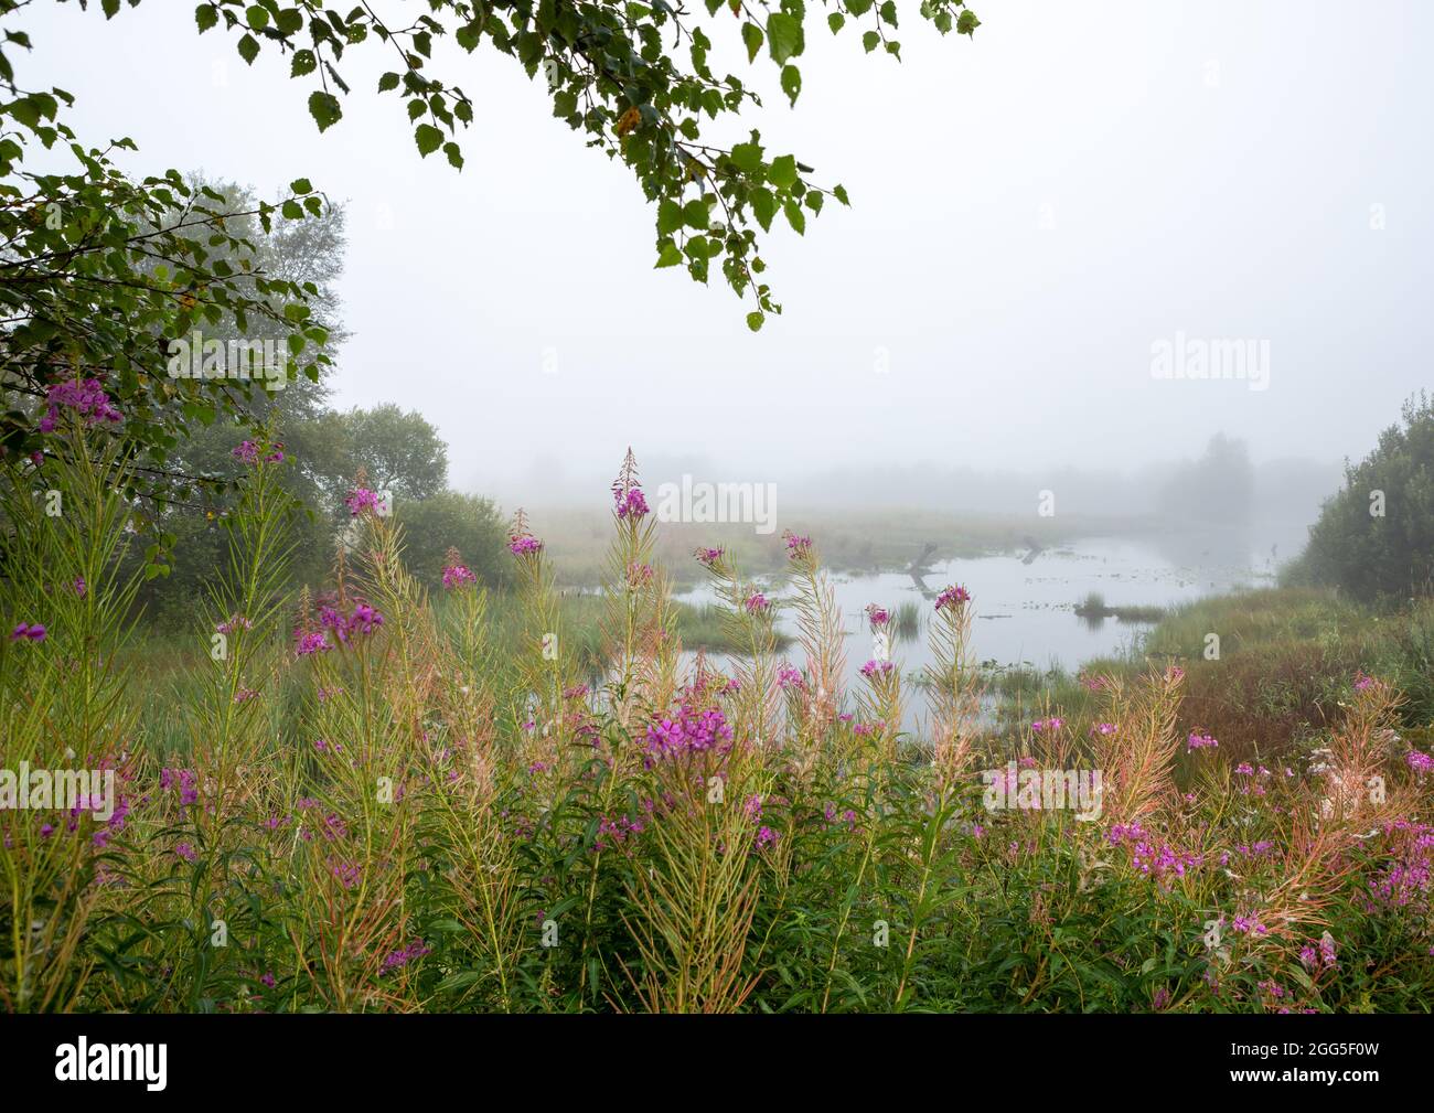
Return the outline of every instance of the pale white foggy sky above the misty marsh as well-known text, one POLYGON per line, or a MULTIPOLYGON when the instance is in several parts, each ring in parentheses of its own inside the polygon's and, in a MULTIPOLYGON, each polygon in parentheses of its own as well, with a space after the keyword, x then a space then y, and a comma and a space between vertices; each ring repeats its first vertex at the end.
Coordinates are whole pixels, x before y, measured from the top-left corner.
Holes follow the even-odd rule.
MULTIPOLYGON (((108 24, 42 3, 14 60, 23 85, 79 98, 82 136, 132 136, 135 172, 265 194, 308 176, 347 201, 336 402, 422 410, 456 486, 609 475, 630 443, 716 479, 1134 470, 1219 429, 1256 459, 1368 452, 1434 380, 1434 4, 974 7, 972 42, 902 4, 902 65, 813 26, 797 108, 774 95, 753 118, 853 201, 769 238, 786 313, 759 336, 724 287, 652 270, 628 172, 486 47, 449 75, 478 102, 462 174, 420 161, 402 102, 370 95, 377 50, 353 56, 358 92, 320 136, 310 86, 274 52, 248 69, 232 37, 198 36, 191 3, 108 24), (1268 389, 1153 377, 1177 331, 1268 341, 1268 389)), ((731 126, 710 133, 744 138, 731 126)))

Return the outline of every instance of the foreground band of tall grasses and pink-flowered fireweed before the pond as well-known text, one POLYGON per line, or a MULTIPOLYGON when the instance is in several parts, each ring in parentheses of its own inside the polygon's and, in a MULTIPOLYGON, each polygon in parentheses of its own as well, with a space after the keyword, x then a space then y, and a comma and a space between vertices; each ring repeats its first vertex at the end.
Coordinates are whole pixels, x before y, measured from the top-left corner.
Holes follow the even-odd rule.
POLYGON ((1428 1010, 1427 605, 1217 601, 1149 660, 992 676, 951 585, 921 684, 898 660, 846 688, 830 572, 789 535, 789 645, 740 556, 700 554, 721 673, 683 664, 631 458, 601 594, 565 594, 519 513, 511 594, 450 569, 430 598, 356 492, 295 598, 261 452, 192 638, 143 644, 126 465, 65 436, 43 475, 0 465, 0 605, 49 631, 0 643, 4 764, 115 769, 120 809, 0 810, 10 1011, 1428 1010), (1279 677, 1309 687, 1250 700, 1279 677), (989 688, 1021 719, 984 726, 989 688), (1291 707, 1308 760, 1253 733, 1291 707), (1007 762, 1103 770, 1101 818, 992 805, 1007 762))

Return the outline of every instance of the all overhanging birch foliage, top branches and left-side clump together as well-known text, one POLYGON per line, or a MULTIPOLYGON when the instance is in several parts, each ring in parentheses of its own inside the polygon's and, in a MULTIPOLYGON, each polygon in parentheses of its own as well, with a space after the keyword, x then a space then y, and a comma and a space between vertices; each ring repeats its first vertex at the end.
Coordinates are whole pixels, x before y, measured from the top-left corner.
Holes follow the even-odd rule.
MULTIPOLYGON (((77 3, 115 19, 141 0, 77 3)), ((323 277, 284 271, 275 265, 284 252, 264 242, 321 240, 305 225, 331 207, 307 178, 260 201, 175 169, 128 176, 113 156, 133 151, 132 141, 83 141, 65 122, 73 96, 29 89, 17 75, 16 60, 33 44, 13 17, 27 7, 0 0, 0 459, 42 468, 46 453, 63 450, 50 430, 57 409, 69 409, 113 430, 133 459, 128 493, 192 498, 218 482, 185 470, 181 446, 196 427, 221 416, 261 420, 277 377, 318 383, 333 363, 323 277), (32 169, 36 145, 47 165, 69 156, 72 166, 32 169), (208 340, 196 336, 204 330, 208 340), (184 359, 199 367, 218 334, 241 356, 247 346, 277 346, 282 366, 257 379, 184 374, 184 359)), ((866 53, 901 56, 892 0, 825 0, 820 13, 804 0, 703 0, 695 11, 667 0, 427 0, 419 14, 417 6, 402 9, 403 26, 377 7, 209 0, 186 19, 199 33, 231 34, 245 63, 264 49, 282 53, 291 77, 310 86, 307 109, 320 132, 343 119, 353 52, 384 52, 393 67, 374 95, 406 113, 419 156, 442 152, 459 171, 459 136, 490 108, 440 70, 482 49, 531 77, 541 73, 554 115, 627 165, 655 202, 657 267, 683 267, 700 283, 716 268, 749 301, 753 330, 780 313, 761 277, 759 232, 780 218, 804 234, 829 198, 847 204, 847 195, 817 184, 796 153, 769 151, 760 129, 747 126, 761 98, 713 69, 714 39, 736 36, 731 46, 749 66, 774 67, 792 103, 803 92, 807 33, 822 23, 859 36, 866 53)), ((919 14, 941 34, 979 26, 962 0, 925 0, 919 14)))

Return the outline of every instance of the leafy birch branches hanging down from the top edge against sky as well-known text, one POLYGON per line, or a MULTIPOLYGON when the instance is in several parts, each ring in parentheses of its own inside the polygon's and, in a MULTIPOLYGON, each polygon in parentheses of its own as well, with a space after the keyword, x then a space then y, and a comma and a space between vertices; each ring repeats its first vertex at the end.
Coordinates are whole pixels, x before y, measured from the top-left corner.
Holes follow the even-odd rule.
MULTIPOLYGON (((459 135, 482 128, 483 115, 496 106, 472 100, 442 76, 436 52, 452 40, 466 53, 480 47, 508 56, 543 82, 552 115, 581 132, 588 145, 621 161, 637 178, 650 202, 657 202, 657 265, 685 267, 707 283, 714 265, 740 295, 756 308, 749 326, 761 327, 769 313, 780 313, 771 287, 761 278, 757 229, 770 232, 780 212, 802 234, 807 212, 819 212, 833 196, 847 204, 840 185, 816 185, 810 166, 790 153, 769 153, 759 131, 746 142, 710 139, 708 128, 726 116, 743 116, 761 106, 749 82, 708 65, 713 36, 736 27, 749 65, 766 46, 782 92, 796 103, 803 92, 797 60, 806 50, 809 23, 820 20, 804 0, 780 0, 766 14, 726 0, 704 0, 703 13, 678 9, 665 0, 651 4, 488 4, 472 0, 433 0, 427 11, 404 27, 390 26, 370 7, 344 14, 323 9, 317 0, 285 4, 248 4, 245 0, 211 0, 195 9, 201 33, 228 32, 245 63, 264 49, 291 56, 290 76, 318 83, 308 98, 308 112, 320 132, 343 118, 343 98, 350 87, 340 66, 357 50, 396 56, 399 66, 383 73, 377 93, 397 100, 413 129, 420 158, 443 151, 462 169, 459 135), (262 17, 255 17, 255 11, 262 17), (728 16, 737 16, 736 20, 728 16), (703 218, 675 214, 697 205, 703 218)), ((870 53, 882 44, 899 56, 896 6, 872 0, 833 0, 823 20, 833 34, 847 26, 866 27, 863 46, 870 53)), ((925 0, 921 17, 941 34, 955 29, 972 36, 979 20, 962 0, 925 0)))

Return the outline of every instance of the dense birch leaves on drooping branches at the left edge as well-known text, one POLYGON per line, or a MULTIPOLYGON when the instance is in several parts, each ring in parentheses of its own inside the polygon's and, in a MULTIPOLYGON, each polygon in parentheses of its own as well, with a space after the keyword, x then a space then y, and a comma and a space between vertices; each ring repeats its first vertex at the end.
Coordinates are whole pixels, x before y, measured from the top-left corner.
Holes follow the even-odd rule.
MULTIPOLYGON (((29 39, 6 32, 0 450, 11 458, 50 452, 39 427, 49 392, 96 379, 123 415, 113 429, 123 452, 142 465, 128 472, 128 493, 192 498, 206 480, 184 472, 181 442, 191 429, 244 413, 265 387, 171 374, 175 344, 195 330, 270 338, 282 353, 277 370, 285 383, 301 376, 317 382, 330 363, 330 330, 313 311, 321 291, 313 281, 267 270, 252 235, 320 221, 327 201, 305 181, 274 204, 245 199, 242 208, 178 171, 132 181, 110 152, 135 145, 119 139, 86 146, 63 119, 69 93, 16 85, 14 47, 27 50, 29 39), (27 171, 36 143, 69 168, 27 171)), ((152 529, 145 516, 136 526, 152 529)))

